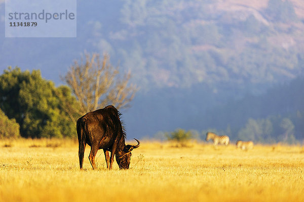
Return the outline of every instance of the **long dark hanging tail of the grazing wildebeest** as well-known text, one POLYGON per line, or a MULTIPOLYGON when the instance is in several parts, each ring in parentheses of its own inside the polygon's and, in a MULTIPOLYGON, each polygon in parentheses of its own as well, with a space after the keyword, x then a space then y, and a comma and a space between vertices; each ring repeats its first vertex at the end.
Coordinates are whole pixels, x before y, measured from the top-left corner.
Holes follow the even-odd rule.
POLYGON ((79 143, 78 156, 79 156, 80 169, 82 169, 83 167, 84 154, 86 149, 86 135, 84 133, 84 125, 85 125, 85 120, 81 118, 78 119, 76 128, 77 128, 78 143, 79 143))

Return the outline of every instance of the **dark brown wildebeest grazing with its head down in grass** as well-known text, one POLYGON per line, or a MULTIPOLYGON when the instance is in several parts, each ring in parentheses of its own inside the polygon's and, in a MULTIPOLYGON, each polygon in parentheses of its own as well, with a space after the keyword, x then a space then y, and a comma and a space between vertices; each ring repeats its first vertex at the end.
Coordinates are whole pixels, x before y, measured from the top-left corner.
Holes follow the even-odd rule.
POLYGON ((91 146, 89 160, 96 170, 95 156, 98 149, 103 149, 106 168, 112 169, 114 156, 120 169, 129 169, 131 151, 137 145, 125 144, 126 134, 120 121, 121 113, 113 106, 89 112, 77 121, 79 142, 79 164, 82 170, 86 144, 91 146), (109 157, 109 151, 111 156, 109 157))

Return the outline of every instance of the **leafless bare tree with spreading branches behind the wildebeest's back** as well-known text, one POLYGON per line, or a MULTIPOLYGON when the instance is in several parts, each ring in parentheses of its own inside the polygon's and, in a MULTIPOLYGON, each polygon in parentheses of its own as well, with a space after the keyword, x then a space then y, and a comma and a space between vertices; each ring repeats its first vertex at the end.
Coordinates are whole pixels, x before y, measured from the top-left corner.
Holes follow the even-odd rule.
POLYGON ((65 82, 79 101, 79 108, 73 109, 77 114, 113 105, 117 109, 129 107, 137 88, 129 84, 131 73, 120 75, 119 68, 108 62, 109 56, 85 53, 81 63, 77 61, 69 68, 65 82))

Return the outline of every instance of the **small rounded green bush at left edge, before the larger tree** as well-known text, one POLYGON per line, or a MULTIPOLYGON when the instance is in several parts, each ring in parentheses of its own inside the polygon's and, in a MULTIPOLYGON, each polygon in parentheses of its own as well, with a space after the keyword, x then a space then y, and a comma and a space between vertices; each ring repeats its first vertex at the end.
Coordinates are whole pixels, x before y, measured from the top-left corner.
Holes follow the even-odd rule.
POLYGON ((20 126, 15 119, 9 119, 0 109, 0 138, 20 137, 20 126))

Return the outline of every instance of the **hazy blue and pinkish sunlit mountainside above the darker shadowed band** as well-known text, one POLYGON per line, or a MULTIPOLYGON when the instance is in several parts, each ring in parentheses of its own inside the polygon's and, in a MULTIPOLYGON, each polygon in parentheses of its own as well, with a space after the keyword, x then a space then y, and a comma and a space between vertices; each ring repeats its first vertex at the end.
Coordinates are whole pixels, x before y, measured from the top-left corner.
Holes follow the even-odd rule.
POLYGON ((45 69, 59 80, 87 49, 108 52, 143 89, 270 85, 301 72, 303 11, 300 0, 78 1, 77 38, 5 39, 2 32, 1 68, 45 69))

